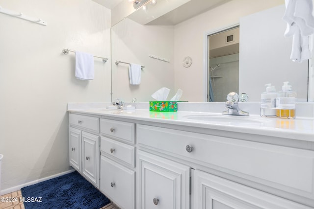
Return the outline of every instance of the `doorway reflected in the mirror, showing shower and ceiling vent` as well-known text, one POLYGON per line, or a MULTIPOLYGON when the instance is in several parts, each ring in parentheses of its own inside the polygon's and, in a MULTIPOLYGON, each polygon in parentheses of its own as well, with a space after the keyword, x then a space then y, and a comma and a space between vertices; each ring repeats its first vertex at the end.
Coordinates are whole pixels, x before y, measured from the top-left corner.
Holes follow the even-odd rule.
POLYGON ((239 91, 239 25, 208 35, 207 101, 239 91))

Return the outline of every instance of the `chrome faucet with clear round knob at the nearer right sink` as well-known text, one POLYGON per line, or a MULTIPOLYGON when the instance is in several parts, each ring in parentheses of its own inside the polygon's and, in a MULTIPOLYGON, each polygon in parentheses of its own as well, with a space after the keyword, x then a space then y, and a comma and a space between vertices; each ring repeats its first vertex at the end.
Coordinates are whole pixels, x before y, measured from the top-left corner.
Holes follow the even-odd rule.
POLYGON ((249 116, 248 112, 240 110, 238 106, 239 95, 237 93, 228 93, 227 100, 225 103, 227 110, 222 112, 223 115, 249 116))

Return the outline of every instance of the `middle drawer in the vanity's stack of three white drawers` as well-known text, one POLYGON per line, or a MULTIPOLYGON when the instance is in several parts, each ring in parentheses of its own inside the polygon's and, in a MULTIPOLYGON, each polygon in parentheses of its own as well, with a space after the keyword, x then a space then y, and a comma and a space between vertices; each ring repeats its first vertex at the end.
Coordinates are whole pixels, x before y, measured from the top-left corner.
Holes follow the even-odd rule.
POLYGON ((108 156, 113 157, 114 159, 118 159, 131 165, 134 167, 135 165, 135 147, 112 140, 106 137, 101 137, 100 142, 101 152, 106 153, 108 156))

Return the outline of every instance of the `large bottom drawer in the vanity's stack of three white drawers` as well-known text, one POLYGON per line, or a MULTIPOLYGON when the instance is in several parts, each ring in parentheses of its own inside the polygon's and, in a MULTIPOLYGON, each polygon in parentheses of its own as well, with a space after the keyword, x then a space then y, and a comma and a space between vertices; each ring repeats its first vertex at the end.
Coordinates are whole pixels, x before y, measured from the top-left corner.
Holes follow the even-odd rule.
POLYGON ((135 208, 135 172, 101 156, 100 189, 124 209, 135 208))

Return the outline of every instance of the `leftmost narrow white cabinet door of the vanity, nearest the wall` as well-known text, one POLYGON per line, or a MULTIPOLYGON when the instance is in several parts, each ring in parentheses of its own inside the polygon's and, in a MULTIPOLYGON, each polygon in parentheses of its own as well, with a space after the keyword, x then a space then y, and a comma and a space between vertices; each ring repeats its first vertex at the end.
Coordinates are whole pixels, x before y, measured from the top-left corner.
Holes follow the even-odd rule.
POLYGON ((70 147, 70 165, 81 173, 81 131, 76 128, 70 128, 69 147, 70 147))

